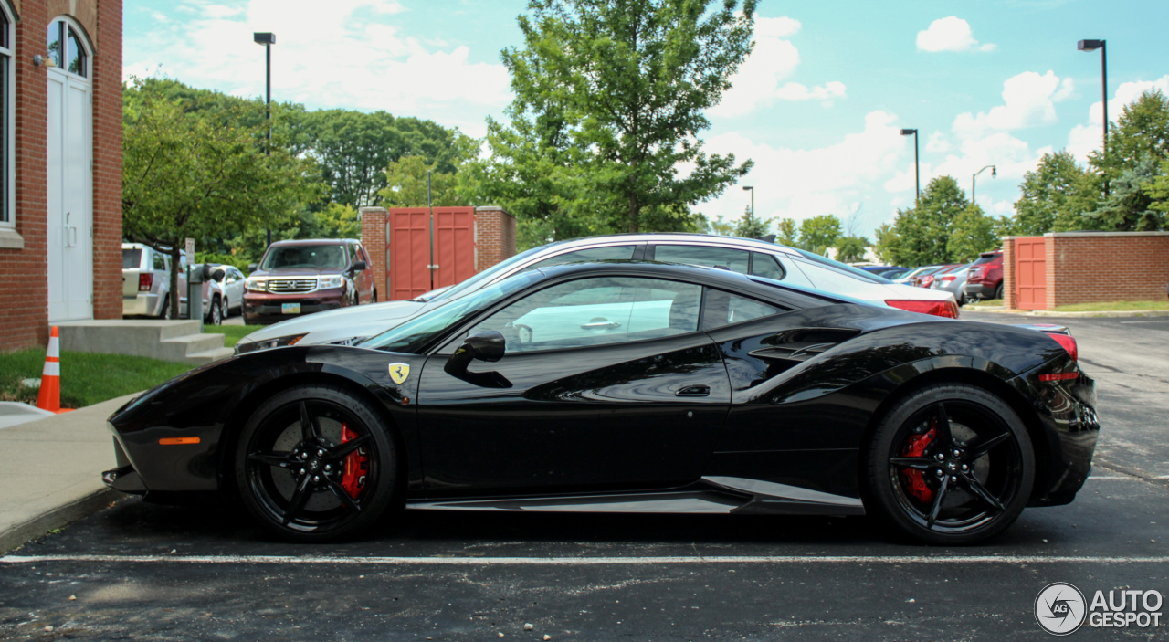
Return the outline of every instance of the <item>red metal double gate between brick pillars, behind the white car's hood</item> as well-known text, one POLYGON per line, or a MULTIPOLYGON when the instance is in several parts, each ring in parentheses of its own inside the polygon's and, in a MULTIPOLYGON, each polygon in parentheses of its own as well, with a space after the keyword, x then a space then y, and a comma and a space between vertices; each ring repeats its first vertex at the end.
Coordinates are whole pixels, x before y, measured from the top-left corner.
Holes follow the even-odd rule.
POLYGON ((436 207, 433 220, 424 207, 394 208, 386 228, 388 301, 414 298, 475 275, 473 207, 436 207))

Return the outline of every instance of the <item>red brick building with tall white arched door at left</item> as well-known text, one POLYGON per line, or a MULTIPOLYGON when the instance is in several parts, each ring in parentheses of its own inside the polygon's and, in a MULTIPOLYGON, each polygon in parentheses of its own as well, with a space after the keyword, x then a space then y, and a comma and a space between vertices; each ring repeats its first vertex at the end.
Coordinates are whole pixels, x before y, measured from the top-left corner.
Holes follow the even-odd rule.
POLYGON ((0 351, 122 316, 122 0, 0 0, 0 351))

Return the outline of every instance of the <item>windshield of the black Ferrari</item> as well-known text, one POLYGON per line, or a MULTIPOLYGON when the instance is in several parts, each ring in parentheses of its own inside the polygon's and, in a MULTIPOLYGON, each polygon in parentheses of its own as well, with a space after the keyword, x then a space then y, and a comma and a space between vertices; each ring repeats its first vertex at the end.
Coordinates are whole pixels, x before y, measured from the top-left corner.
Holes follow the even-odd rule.
POLYGON ((490 288, 484 288, 470 296, 448 302, 424 315, 414 317, 402 325, 361 341, 359 345, 387 352, 420 354, 435 337, 448 327, 458 325, 479 310, 527 287, 541 276, 544 275, 539 271, 518 274, 490 288))

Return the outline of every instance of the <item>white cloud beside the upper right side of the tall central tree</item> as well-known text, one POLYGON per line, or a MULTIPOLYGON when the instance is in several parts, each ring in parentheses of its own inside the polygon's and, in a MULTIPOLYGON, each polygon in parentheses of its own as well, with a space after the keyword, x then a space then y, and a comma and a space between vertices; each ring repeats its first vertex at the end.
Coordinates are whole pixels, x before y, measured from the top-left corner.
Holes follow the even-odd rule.
POLYGON ((830 106, 832 99, 844 98, 844 83, 836 81, 810 89, 795 82, 780 84, 800 65, 800 50, 786 40, 797 34, 800 28, 798 20, 787 16, 756 16, 755 49, 731 77, 731 89, 710 110, 711 116, 743 116, 776 101, 821 101, 830 106))

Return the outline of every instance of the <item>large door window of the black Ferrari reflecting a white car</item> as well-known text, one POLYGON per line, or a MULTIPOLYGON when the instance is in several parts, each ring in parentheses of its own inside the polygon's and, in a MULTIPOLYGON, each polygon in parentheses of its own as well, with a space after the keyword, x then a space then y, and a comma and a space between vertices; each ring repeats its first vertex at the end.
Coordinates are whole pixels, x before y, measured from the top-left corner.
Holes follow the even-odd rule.
POLYGON ((503 333, 509 353, 684 334, 698 330, 701 291, 657 278, 581 278, 528 295, 471 332, 503 333))

